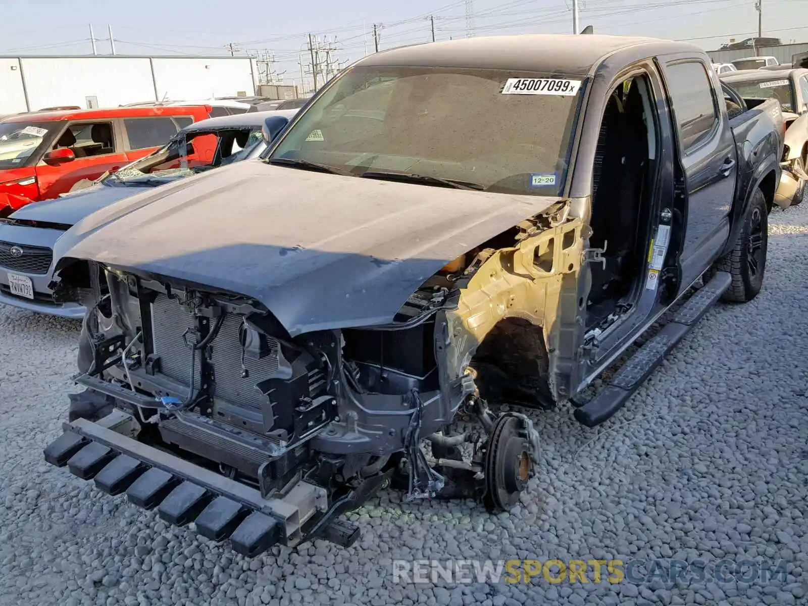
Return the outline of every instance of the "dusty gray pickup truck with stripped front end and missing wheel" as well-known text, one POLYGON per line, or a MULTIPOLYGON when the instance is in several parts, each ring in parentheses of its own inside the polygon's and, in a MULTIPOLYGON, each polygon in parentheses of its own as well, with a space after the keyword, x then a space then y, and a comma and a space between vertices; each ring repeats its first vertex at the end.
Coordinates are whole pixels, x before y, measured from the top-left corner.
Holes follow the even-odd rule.
POLYGON ((507 510, 540 436, 494 404, 602 423, 720 298, 760 291, 781 127, 774 101, 730 121, 689 44, 365 57, 262 161, 59 240, 86 389, 45 459, 247 556, 351 545, 340 515, 391 482, 507 510))

